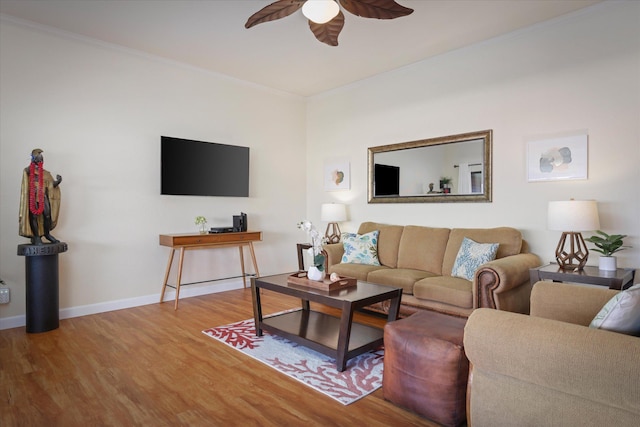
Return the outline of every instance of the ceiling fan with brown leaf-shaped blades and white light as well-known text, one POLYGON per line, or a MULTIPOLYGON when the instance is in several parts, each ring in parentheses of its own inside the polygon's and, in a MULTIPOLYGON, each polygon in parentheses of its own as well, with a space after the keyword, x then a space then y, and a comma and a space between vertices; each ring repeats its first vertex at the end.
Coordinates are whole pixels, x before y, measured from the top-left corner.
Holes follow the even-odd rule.
POLYGON ((302 8, 316 39, 329 46, 338 46, 338 35, 344 27, 344 14, 340 5, 363 18, 394 19, 413 12, 413 9, 394 0, 278 0, 251 15, 244 26, 251 28, 263 22, 284 18, 302 8))

